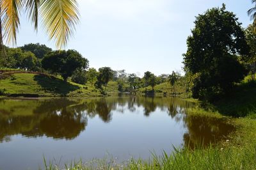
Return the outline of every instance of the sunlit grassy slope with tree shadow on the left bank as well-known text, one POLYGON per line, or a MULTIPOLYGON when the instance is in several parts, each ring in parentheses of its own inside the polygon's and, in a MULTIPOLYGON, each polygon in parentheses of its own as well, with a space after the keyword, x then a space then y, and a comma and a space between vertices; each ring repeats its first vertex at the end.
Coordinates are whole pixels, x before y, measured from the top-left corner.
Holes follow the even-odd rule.
POLYGON ((0 80, 2 95, 38 97, 93 97, 100 93, 94 87, 65 82, 56 77, 33 73, 14 73, 0 80))

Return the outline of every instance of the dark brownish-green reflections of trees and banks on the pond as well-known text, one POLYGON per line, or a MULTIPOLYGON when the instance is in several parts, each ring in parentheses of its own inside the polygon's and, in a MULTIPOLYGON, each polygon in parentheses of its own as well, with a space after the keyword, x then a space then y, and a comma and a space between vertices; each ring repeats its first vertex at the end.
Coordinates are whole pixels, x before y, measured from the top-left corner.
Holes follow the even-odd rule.
MULTIPOLYGON (((109 123, 112 112, 141 111, 150 116, 159 109, 187 129, 184 144, 193 145, 220 140, 233 129, 225 123, 209 118, 186 116, 186 108, 193 104, 177 98, 109 97, 109 98, 51 98, 40 100, 0 100, 0 141, 11 141, 12 135, 26 137, 47 136, 53 139, 74 139, 86 129, 88 119, 99 116, 109 123), (226 131, 223 129, 227 129, 226 131)), ((157 113, 157 112, 156 112, 157 113)), ((154 135, 154 134, 153 134, 154 135)))

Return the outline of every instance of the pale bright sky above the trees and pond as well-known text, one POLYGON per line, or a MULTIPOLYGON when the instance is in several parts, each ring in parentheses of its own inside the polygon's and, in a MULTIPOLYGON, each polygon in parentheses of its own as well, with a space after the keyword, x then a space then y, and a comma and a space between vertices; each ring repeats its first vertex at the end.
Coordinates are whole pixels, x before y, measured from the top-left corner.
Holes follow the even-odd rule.
MULTIPOLYGON (((75 49, 90 61, 90 67, 143 75, 182 71, 186 39, 195 16, 208 8, 226 4, 243 27, 252 23, 247 10, 251 0, 77 0, 80 24, 66 49, 75 49)), ((17 46, 42 43, 55 49, 44 29, 33 30, 26 15, 20 20, 17 46)))

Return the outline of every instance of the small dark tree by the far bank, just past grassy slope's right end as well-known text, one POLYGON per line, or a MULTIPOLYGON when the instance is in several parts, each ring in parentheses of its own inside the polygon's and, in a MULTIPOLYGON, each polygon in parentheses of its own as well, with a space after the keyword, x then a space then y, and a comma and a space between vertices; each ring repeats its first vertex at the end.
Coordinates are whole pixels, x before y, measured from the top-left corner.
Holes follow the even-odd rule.
POLYGON ((102 88, 102 85, 105 86, 105 91, 108 85, 108 82, 113 78, 113 70, 110 67, 99 68, 99 74, 97 75, 97 82, 95 83, 97 88, 102 88))

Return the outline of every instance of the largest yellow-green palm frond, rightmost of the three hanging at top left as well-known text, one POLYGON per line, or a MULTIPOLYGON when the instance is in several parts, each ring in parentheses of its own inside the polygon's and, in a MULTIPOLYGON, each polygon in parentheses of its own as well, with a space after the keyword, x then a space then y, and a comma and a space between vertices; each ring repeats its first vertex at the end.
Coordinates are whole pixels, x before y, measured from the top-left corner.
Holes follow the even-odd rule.
POLYGON ((45 31, 51 40, 55 40, 56 47, 65 47, 79 22, 76 0, 43 0, 40 15, 45 31))

